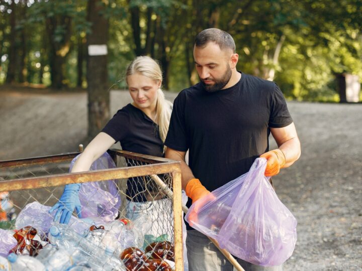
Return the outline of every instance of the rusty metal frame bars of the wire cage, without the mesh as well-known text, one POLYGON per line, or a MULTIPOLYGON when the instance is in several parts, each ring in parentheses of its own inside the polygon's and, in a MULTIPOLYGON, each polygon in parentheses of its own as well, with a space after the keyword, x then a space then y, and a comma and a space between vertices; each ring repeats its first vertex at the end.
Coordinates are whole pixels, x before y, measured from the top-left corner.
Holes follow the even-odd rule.
MULTIPOLYGON (((141 155, 127 151, 112 149, 108 153, 116 160, 117 156, 149 163, 149 165, 121 167, 115 169, 95 170, 77 173, 53 174, 39 177, 19 178, 0 181, 0 192, 23 189, 35 189, 60 186, 72 183, 96 182, 111 179, 124 179, 152 174, 170 173, 173 180, 173 219, 175 270, 184 269, 182 238, 182 196, 180 162, 165 158, 141 155)), ((45 165, 71 161, 79 153, 67 153, 53 156, 34 157, 0 161, 0 170, 6 168, 45 165)))

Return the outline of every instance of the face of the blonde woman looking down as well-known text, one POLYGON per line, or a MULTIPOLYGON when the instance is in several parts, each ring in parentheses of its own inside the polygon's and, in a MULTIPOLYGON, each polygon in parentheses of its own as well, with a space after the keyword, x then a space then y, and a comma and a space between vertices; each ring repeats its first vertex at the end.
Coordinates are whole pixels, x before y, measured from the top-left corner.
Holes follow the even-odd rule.
POLYGON ((138 108, 153 110, 156 107, 160 81, 154 81, 140 73, 135 73, 127 77, 127 84, 131 97, 138 108))

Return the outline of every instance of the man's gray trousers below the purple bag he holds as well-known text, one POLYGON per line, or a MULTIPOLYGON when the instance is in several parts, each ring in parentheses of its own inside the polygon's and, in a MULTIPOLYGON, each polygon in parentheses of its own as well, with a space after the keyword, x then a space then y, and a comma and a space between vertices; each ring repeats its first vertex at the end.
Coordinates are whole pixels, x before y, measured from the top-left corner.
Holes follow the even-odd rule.
MULTIPOLYGON (((232 271, 233 265, 209 240, 197 230, 188 230, 186 247, 189 271, 232 271)), ((283 271, 283 264, 278 266, 255 265, 236 258, 245 271, 283 271)))

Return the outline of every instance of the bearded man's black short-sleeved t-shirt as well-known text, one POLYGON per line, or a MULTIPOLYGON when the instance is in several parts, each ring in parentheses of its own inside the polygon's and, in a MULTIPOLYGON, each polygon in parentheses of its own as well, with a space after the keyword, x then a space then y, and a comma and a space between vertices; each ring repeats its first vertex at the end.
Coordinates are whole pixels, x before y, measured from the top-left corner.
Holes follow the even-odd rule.
POLYGON ((213 191, 249 171, 268 151, 269 127, 292 122, 276 83, 242 73, 227 89, 210 93, 198 83, 180 92, 165 145, 189 150, 189 167, 213 191))

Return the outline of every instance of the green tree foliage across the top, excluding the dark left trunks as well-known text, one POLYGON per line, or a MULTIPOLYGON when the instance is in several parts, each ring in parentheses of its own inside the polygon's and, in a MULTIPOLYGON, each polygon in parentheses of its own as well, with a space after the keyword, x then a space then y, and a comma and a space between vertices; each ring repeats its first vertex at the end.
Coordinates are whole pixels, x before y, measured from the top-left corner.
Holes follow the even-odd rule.
MULTIPOLYGON (((4 56, 10 48, 10 5, 0 5, 4 6, 0 7, 0 54, 4 56)), ((274 79, 290 99, 338 101, 335 74, 352 73, 362 80, 359 0, 109 0, 100 5, 106 5, 104 16, 110 22, 108 74, 113 88, 126 87, 125 67, 140 53, 160 61, 169 89, 179 91, 189 86, 195 75, 195 36, 210 27, 233 36, 238 70, 274 79), (138 16, 133 22, 132 12, 138 16), (139 44, 134 34, 137 27, 139 44)), ((35 1, 24 18, 18 17, 17 31, 27 33, 30 82, 49 82, 49 71, 44 70, 49 69, 50 53, 46 26, 56 20, 50 41, 61 45, 70 32, 65 82, 75 86, 77 41, 91 29, 86 8, 86 0, 35 1), (69 18, 71 28, 61 18, 69 18), (36 57, 37 52, 40 57, 36 57)), ((1 63, 0 83, 4 82, 7 65, 8 60, 1 63)))

